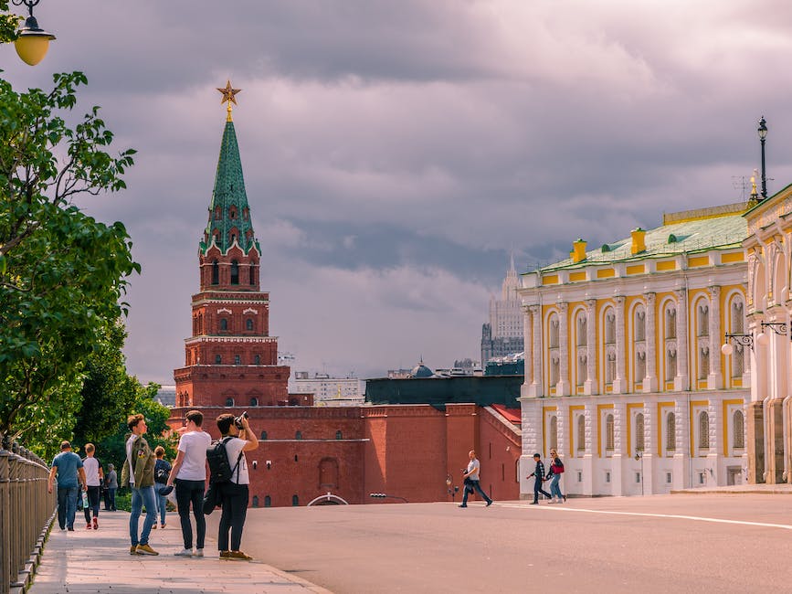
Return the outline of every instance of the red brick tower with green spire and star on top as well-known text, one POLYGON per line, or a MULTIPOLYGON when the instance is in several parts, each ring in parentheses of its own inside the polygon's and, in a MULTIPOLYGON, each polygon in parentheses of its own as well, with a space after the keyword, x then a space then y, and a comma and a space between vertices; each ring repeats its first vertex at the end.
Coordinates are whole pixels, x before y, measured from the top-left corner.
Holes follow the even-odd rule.
POLYGON ((290 369, 278 365, 278 338, 269 335, 269 292, 259 290, 261 249, 253 234, 231 103, 227 101, 209 220, 199 244, 200 291, 193 295, 193 335, 185 366, 174 369, 176 407, 287 404, 290 369))

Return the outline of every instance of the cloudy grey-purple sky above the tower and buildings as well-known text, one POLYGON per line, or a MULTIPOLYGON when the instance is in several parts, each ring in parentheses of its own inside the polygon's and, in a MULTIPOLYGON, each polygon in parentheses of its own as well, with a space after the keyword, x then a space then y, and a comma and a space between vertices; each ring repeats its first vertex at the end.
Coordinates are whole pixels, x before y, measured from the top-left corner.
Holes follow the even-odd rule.
POLYGON ((792 6, 781 0, 44 0, 58 36, 18 90, 82 70, 139 151, 118 195, 132 279, 128 367, 173 382, 191 332, 230 79, 270 330, 294 368, 379 377, 478 358, 518 270, 737 202, 769 127, 792 182, 792 6))

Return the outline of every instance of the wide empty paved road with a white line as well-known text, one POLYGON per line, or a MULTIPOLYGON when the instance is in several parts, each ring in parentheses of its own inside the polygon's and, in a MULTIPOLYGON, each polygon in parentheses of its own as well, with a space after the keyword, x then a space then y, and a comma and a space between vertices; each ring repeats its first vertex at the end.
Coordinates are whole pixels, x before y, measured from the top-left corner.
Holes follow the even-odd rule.
POLYGON ((792 592, 792 497, 256 509, 243 548, 337 594, 792 592))

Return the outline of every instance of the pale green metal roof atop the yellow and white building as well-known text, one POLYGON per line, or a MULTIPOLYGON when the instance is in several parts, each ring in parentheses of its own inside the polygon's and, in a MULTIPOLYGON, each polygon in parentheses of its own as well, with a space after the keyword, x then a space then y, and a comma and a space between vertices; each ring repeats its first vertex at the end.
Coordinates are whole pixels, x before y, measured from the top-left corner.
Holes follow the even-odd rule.
MULTIPOLYGON (((734 205, 736 206, 736 205, 734 205)), ((691 211, 694 214, 696 211, 691 211)), ((688 214, 688 213, 684 213, 688 214)), ((681 253, 729 249, 740 247, 748 235, 748 225, 743 217, 744 208, 723 216, 701 217, 669 223, 646 232, 646 250, 630 253, 632 239, 619 239, 603 244, 597 249, 586 249, 586 260, 574 263, 571 258, 544 266, 548 272, 565 268, 583 268, 588 264, 607 264, 626 260, 662 258, 681 253)), ((672 217, 672 216, 669 216, 672 217)), ((592 246, 587 246, 592 248, 592 246)))

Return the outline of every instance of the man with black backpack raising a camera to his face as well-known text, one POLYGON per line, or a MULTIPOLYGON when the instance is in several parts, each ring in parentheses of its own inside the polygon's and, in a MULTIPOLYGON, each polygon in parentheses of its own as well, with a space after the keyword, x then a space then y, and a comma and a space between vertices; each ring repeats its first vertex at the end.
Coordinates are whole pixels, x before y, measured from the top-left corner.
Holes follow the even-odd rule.
POLYGON ((217 429, 223 438, 231 436, 226 441, 228 464, 234 472, 231 473, 229 483, 223 483, 222 502, 223 513, 220 515, 220 534, 217 536, 217 548, 220 549, 221 559, 245 559, 249 557, 239 550, 242 544, 242 528, 245 517, 248 515, 248 461, 245 452, 256 450, 259 440, 250 429, 247 413, 239 419, 239 427, 234 415, 224 414, 217 417, 217 429), (231 544, 228 546, 228 532, 231 533, 231 544))

